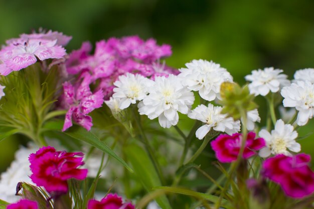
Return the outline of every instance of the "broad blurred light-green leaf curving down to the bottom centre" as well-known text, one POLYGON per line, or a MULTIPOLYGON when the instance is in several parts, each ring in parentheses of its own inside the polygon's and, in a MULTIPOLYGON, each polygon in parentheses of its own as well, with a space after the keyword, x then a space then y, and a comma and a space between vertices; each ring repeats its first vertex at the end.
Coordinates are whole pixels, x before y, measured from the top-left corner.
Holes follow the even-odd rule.
MULTIPOLYGON (((161 186, 161 181, 152 162, 140 146, 130 144, 124 146, 123 151, 127 159, 131 162, 135 175, 137 175, 147 191, 151 191, 152 187, 161 186)), ((166 195, 157 197, 155 200, 163 209, 172 208, 166 195)))

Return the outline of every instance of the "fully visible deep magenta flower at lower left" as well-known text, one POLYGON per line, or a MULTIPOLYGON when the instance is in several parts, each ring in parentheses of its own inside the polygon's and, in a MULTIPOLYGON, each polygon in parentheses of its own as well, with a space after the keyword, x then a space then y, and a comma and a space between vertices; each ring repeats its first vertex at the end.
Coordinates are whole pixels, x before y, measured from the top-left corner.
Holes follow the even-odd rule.
POLYGON ((78 169, 84 164, 82 152, 56 151, 54 147, 42 147, 29 156, 31 179, 50 193, 66 193, 67 179, 86 178, 87 169, 78 169), (78 156, 78 157, 76 157, 78 156))

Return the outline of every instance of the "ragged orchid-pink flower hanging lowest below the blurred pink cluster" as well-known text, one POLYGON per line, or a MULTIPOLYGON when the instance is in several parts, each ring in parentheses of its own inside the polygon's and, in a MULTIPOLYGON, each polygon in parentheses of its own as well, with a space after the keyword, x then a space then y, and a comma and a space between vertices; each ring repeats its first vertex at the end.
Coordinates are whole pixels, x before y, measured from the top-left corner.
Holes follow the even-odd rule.
POLYGON ((84 79, 77 88, 69 82, 63 84, 62 106, 68 109, 68 112, 65 115, 62 131, 73 125, 72 120, 89 131, 93 123, 92 118, 87 114, 101 107, 104 101, 102 90, 95 93, 90 91, 90 74, 86 72, 82 74, 82 77, 84 79))

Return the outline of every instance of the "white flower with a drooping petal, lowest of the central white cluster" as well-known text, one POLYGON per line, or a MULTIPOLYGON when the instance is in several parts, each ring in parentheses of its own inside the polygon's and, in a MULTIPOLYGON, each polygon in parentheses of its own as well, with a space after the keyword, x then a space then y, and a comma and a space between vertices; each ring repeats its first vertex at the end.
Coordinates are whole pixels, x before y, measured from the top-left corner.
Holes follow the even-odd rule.
POLYGON ((198 139, 203 139, 212 128, 229 135, 240 131, 240 121, 234 121, 233 118, 227 117, 227 114, 221 114, 221 110, 222 107, 215 107, 212 104, 208 104, 206 107, 202 104, 188 114, 190 118, 206 123, 197 129, 195 134, 198 139))

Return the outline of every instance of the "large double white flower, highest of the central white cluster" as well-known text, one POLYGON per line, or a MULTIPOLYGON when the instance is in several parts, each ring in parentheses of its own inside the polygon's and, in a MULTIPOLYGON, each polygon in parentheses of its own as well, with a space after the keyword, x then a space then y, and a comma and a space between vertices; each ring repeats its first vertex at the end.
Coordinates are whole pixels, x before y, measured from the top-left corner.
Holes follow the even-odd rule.
POLYGON ((192 91, 198 91, 207 101, 213 101, 216 97, 220 99, 220 85, 225 81, 232 82, 230 73, 213 61, 193 60, 186 66, 187 68, 179 69, 183 85, 192 91))

